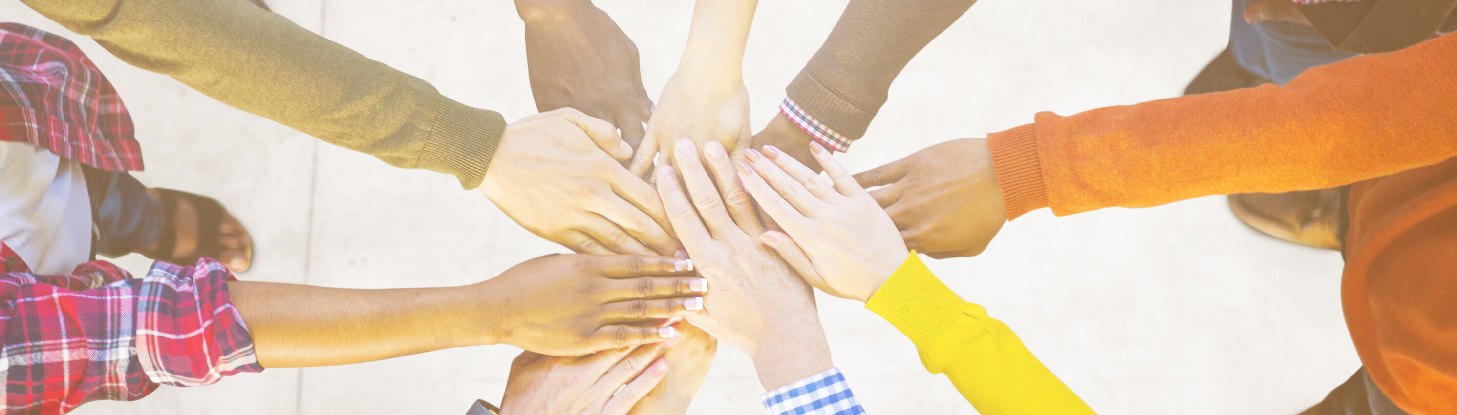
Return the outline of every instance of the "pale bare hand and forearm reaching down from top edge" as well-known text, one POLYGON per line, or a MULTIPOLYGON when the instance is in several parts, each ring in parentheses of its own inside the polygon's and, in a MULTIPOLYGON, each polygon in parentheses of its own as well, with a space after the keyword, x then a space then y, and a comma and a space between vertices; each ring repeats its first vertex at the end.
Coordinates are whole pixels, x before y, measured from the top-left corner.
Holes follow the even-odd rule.
POLYGON ((698 0, 688 47, 663 87, 629 170, 643 176, 680 138, 699 146, 717 141, 733 154, 749 147, 749 92, 743 86, 743 48, 758 0, 698 0))

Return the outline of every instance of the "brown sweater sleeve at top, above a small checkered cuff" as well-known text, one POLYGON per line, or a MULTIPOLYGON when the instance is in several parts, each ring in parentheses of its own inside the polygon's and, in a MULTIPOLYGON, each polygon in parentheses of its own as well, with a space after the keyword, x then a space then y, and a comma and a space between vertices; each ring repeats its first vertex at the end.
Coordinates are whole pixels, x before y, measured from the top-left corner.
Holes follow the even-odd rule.
POLYGON ((976 0, 851 0, 785 92, 835 133, 860 140, 900 70, 972 3, 976 0))

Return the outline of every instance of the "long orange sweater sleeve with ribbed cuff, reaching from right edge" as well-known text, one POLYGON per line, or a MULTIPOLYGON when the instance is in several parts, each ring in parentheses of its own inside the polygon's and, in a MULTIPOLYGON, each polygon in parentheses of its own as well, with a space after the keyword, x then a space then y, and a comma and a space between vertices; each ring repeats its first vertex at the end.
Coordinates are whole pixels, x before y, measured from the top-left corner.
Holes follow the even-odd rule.
POLYGON ((1457 156, 1457 35, 988 135, 1007 217, 1330 188, 1457 156))

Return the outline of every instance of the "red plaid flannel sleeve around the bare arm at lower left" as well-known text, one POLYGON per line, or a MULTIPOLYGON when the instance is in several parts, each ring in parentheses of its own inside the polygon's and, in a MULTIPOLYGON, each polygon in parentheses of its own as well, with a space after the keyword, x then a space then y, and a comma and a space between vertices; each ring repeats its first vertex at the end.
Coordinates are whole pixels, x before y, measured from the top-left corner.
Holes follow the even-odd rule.
POLYGON ((0 243, 0 393, 4 414, 66 414, 90 400, 136 400, 159 384, 203 386, 262 371, 213 259, 156 262, 143 278, 93 261, 36 275, 0 243))

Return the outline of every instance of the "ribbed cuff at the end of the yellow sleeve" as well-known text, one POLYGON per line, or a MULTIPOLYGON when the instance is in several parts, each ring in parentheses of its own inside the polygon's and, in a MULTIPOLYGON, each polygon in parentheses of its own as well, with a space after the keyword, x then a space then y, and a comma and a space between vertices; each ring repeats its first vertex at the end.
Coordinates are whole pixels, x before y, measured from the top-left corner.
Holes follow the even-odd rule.
POLYGON ((927 349, 946 333, 947 328, 963 325, 965 304, 966 301, 941 284, 941 280, 935 278, 921 262, 921 256, 912 250, 900 268, 890 274, 890 280, 870 296, 865 309, 896 326, 915 342, 916 348, 927 349))

